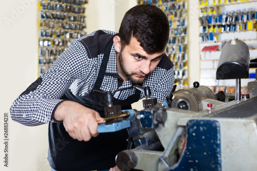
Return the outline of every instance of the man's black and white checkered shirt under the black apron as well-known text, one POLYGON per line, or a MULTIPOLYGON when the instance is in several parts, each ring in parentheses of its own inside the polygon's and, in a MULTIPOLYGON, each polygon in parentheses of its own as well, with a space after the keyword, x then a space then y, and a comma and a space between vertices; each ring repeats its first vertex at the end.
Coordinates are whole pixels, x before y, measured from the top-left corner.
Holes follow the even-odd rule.
MULTIPOLYGON (((116 34, 112 31, 102 31, 116 34)), ((63 101, 60 98, 68 88, 76 96, 83 96, 94 88, 103 53, 97 58, 88 58, 87 51, 79 41, 87 36, 94 36, 95 33, 73 40, 47 72, 41 75, 39 78, 41 81, 38 79, 40 83, 36 87, 32 86, 31 91, 22 94, 13 102, 10 114, 14 121, 28 126, 54 122, 53 111, 63 101)), ((152 74, 143 82, 143 86, 150 87, 152 98, 157 98, 158 102, 166 101, 165 97, 170 93, 174 83, 173 64, 167 56, 163 57, 165 58, 161 59, 152 74)), ((135 88, 132 87, 130 80, 122 85, 118 84, 118 77, 116 50, 113 45, 100 89, 111 90, 117 99, 124 100, 135 93, 135 88)), ((140 99, 142 98, 144 98, 143 92, 140 96, 140 99)))

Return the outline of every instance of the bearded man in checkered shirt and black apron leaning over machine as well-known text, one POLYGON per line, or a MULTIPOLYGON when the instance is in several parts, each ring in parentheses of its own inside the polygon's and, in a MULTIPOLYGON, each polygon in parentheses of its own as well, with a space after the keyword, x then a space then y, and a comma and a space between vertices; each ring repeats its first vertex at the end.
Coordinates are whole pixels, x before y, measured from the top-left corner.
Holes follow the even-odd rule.
MULTIPOLYGON (((126 130, 98 134, 103 98, 127 108, 144 98, 134 85, 151 88, 165 101, 174 83, 173 64, 164 54, 169 22, 155 5, 128 10, 119 33, 98 30, 73 40, 57 61, 17 98, 14 121, 34 126, 49 123, 48 160, 55 170, 101 170, 115 165, 126 149, 126 130)), ((116 168, 116 167, 115 167, 116 168)))

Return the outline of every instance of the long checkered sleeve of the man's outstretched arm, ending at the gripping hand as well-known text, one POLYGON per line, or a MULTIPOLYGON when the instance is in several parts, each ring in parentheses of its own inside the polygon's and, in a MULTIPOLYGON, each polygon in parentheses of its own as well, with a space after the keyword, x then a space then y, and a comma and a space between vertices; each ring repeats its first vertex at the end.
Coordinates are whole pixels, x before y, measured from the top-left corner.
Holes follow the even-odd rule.
POLYGON ((56 122, 53 118, 60 98, 69 86, 88 73, 85 48, 74 40, 46 73, 32 83, 10 108, 12 120, 28 126, 56 122))

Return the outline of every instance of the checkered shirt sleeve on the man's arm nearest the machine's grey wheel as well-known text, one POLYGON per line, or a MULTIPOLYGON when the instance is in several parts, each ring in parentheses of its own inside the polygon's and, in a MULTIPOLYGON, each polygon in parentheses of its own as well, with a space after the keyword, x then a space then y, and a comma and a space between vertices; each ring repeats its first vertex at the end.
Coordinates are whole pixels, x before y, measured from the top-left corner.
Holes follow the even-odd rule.
POLYGON ((156 85, 151 87, 151 98, 157 98, 158 103, 166 102, 166 97, 169 96, 173 84, 174 70, 173 67, 171 67, 169 70, 165 70, 165 72, 156 79, 156 85))

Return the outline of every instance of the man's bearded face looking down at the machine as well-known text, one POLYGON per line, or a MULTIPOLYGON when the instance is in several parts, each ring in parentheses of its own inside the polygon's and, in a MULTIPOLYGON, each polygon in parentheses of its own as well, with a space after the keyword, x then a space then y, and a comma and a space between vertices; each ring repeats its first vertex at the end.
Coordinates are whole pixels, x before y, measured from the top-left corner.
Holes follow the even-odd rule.
POLYGON ((146 53, 140 43, 133 37, 130 44, 120 51, 118 62, 126 78, 135 84, 139 84, 153 72, 163 55, 164 50, 160 53, 146 53))

